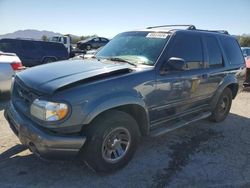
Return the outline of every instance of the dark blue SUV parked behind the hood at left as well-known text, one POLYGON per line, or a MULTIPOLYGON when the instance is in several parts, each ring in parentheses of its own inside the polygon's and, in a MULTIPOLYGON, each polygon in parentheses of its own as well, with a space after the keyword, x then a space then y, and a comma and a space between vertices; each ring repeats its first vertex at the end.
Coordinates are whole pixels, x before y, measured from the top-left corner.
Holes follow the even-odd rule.
POLYGON ((62 43, 27 39, 0 39, 0 50, 15 53, 26 67, 69 58, 62 43))

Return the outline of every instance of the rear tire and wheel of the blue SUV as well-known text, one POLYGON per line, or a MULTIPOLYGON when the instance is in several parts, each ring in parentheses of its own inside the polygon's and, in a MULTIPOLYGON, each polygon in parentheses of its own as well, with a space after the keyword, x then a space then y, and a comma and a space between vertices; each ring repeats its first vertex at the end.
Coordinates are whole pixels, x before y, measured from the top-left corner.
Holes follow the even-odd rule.
POLYGON ((231 89, 226 88, 222 92, 216 104, 216 107, 209 119, 213 122, 223 121, 224 119, 226 119, 230 111, 231 105, 232 105, 232 91, 231 89))

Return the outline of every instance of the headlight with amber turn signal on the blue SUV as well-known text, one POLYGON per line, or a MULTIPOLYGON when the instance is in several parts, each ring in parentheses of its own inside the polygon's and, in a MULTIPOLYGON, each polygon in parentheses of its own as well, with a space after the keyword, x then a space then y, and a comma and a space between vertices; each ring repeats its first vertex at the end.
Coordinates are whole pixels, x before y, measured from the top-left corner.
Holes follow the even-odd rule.
POLYGON ((48 102, 36 99, 30 107, 30 113, 44 121, 58 121, 66 117, 69 109, 64 103, 48 102))

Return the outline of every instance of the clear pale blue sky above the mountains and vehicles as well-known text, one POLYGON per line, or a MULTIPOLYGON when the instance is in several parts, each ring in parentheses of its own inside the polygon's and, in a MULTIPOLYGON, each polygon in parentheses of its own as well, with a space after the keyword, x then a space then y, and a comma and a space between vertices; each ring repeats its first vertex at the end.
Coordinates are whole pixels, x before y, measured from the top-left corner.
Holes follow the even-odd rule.
POLYGON ((0 0, 0 35, 37 29, 113 37, 164 24, 250 34, 250 0, 0 0))

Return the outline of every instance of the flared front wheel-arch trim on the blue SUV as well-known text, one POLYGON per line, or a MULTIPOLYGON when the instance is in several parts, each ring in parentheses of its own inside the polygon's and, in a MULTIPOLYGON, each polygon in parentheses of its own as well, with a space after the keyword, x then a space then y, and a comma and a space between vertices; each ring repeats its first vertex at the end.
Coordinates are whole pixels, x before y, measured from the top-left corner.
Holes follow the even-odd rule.
POLYGON ((88 110, 90 110, 90 108, 92 110, 90 110, 90 113, 88 113, 87 116, 85 116, 82 124, 89 124, 95 117, 97 117, 99 114, 101 114, 102 112, 105 112, 109 109, 112 108, 116 108, 116 107, 120 107, 123 105, 138 105, 139 107, 141 107, 145 113, 146 113, 146 117, 147 117, 147 129, 149 129, 149 114, 148 114, 148 109, 146 107, 146 104, 143 100, 142 97, 139 97, 137 95, 136 96, 117 96, 117 97, 113 97, 113 98, 107 98, 108 100, 105 100, 103 103, 100 103, 98 105, 95 104, 95 101, 93 101, 93 104, 91 105, 87 105, 87 109, 84 109, 85 112, 88 112, 88 110), (94 108, 93 108, 94 107, 94 108))

